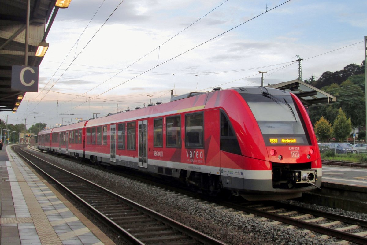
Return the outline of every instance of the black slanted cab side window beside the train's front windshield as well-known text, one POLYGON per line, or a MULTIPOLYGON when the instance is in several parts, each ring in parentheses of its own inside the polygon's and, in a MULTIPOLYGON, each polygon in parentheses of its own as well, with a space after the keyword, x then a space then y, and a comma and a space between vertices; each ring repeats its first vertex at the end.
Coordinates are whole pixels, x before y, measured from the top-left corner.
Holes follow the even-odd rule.
POLYGON ((241 154, 240 145, 238 143, 235 131, 228 120, 226 114, 221 111, 221 150, 234 154, 241 154))

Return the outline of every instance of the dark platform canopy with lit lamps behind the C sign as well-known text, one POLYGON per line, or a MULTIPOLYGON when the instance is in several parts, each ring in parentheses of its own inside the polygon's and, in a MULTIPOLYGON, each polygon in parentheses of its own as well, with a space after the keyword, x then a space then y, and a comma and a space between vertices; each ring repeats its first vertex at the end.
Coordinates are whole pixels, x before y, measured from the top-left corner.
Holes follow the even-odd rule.
MULTIPOLYGON (((38 67, 39 43, 45 38, 45 26, 55 0, 30 0, 28 66, 38 67)), ((11 89, 12 66, 25 65, 25 29, 27 0, 0 0, 0 111, 15 111, 25 94, 11 89)), ((51 23, 51 22, 50 22, 51 23)))

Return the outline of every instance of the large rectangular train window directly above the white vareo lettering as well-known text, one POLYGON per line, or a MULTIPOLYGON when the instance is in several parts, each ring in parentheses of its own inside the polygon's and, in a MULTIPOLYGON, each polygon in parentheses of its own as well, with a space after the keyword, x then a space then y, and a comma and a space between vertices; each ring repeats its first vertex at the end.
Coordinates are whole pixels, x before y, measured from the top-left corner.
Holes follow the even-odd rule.
POLYGON ((185 115, 185 146, 204 147, 204 115, 203 113, 185 115))

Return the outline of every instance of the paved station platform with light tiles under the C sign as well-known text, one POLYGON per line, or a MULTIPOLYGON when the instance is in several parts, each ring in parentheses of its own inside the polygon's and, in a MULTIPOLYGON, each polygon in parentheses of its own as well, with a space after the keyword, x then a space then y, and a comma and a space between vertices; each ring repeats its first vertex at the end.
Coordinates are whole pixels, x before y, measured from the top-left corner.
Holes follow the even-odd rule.
POLYGON ((0 152, 1 245, 113 245, 10 146, 0 152))

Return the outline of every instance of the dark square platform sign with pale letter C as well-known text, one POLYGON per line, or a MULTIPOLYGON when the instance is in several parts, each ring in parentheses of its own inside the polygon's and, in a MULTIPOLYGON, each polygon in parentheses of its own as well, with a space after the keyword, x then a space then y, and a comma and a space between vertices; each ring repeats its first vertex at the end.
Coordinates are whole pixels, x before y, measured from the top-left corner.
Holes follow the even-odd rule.
POLYGON ((11 89, 25 92, 38 92, 38 67, 12 66, 11 89))

